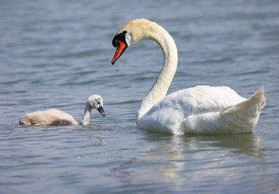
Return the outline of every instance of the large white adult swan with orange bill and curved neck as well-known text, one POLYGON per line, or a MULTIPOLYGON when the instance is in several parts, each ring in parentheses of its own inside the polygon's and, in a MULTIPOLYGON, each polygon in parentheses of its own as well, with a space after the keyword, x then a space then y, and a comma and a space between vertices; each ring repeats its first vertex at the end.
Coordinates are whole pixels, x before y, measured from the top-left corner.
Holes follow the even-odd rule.
POLYGON ((263 87, 249 99, 229 87, 197 86, 167 94, 177 66, 172 36, 155 22, 138 19, 123 25, 114 36, 112 64, 128 46, 140 40, 160 45, 164 64, 156 82, 137 111, 137 126, 149 130, 183 133, 248 133, 255 128, 266 98, 263 87))

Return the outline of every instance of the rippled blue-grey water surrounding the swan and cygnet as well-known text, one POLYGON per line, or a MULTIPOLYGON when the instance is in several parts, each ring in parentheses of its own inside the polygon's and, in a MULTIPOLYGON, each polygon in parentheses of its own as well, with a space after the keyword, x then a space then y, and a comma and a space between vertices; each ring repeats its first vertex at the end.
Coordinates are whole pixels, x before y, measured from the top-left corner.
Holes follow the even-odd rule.
POLYGON ((278 193, 279 1, 0 1, 0 193, 278 193), (248 97, 264 85, 253 133, 167 135, 135 113, 163 63, 156 43, 128 48, 112 67, 117 29, 162 25, 179 65, 169 92, 197 84, 248 97), (56 107, 90 125, 19 126, 56 107))

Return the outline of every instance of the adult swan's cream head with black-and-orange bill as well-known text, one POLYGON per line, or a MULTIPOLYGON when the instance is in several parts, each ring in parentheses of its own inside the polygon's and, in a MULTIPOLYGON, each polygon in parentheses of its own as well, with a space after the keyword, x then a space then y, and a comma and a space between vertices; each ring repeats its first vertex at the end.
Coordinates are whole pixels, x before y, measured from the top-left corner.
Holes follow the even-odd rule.
POLYGON ((112 39, 112 45, 116 47, 112 65, 131 45, 135 45, 140 40, 153 39, 151 34, 156 30, 156 27, 158 24, 145 19, 132 20, 124 24, 112 39))

